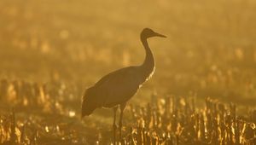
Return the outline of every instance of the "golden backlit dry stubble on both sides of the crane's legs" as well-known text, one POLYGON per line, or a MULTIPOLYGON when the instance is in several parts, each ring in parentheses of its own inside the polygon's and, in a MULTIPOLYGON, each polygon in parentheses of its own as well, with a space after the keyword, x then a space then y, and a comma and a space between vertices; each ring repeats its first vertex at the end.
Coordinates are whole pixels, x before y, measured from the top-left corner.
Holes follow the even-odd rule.
MULTIPOLYGON (((96 131, 99 127, 97 120, 86 119, 84 124, 79 120, 79 107, 74 106, 78 106, 75 104, 80 102, 72 97, 76 91, 74 88, 70 90, 71 86, 68 88, 63 86, 64 84, 60 85, 56 82, 31 84, 3 80, 0 142, 3 144, 112 142, 111 129, 106 127, 106 124, 102 131, 96 131), (5 84, 7 86, 4 86, 5 84), (15 86, 15 84, 19 85, 15 86), (66 96, 66 99, 63 100, 61 96, 66 96), (3 104, 6 105, 5 108, 3 104), (6 111, 9 106, 15 108, 8 113, 6 111)), ((256 142, 256 110, 249 109, 239 115, 237 114, 239 107, 233 103, 224 104, 210 98, 206 99, 203 107, 198 107, 198 104, 200 103, 195 102, 195 97, 160 98, 153 95, 146 107, 131 105, 125 111, 126 125, 123 128, 125 136, 120 142, 122 144, 248 145, 256 142)))

